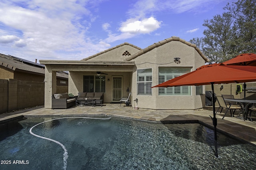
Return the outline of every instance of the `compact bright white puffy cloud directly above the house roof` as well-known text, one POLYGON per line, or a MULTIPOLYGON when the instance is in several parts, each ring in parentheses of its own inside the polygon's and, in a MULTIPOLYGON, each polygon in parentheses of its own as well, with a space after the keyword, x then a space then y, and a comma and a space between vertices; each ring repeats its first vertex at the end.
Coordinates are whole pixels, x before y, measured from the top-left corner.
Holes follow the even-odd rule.
POLYGON ((155 31, 160 27, 161 21, 157 21, 155 18, 145 18, 143 20, 129 19, 122 23, 119 30, 123 33, 131 34, 146 34, 155 31))

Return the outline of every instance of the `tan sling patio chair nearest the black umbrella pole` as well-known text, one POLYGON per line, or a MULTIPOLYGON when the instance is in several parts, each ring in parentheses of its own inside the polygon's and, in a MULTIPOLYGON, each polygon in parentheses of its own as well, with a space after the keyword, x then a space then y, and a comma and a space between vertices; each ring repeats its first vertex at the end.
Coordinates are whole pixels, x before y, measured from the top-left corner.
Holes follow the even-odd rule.
MULTIPOLYGON (((220 105, 220 107, 218 108, 218 110, 221 108, 222 109, 226 109, 226 112, 224 113, 224 116, 222 117, 222 119, 224 119, 224 117, 226 116, 226 114, 228 113, 228 110, 230 111, 230 115, 232 117, 234 117, 234 113, 236 112, 237 109, 242 109, 240 105, 232 105, 230 102, 228 102, 228 105, 226 103, 226 101, 224 100, 223 96, 216 96, 217 97, 217 101, 220 105)), ((216 111, 216 114, 218 113, 218 110, 216 111)), ((221 112, 220 112, 221 113, 221 112)))

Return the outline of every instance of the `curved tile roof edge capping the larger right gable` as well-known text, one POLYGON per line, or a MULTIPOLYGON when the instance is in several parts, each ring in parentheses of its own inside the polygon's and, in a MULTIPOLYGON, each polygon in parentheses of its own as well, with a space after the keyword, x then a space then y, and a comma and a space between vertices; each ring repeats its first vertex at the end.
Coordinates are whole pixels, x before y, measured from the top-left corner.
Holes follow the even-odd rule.
POLYGON ((206 62, 210 61, 210 60, 202 53, 202 51, 201 51, 198 47, 196 47, 195 44, 192 44, 192 43, 190 43, 190 42, 188 42, 188 41, 185 41, 184 39, 180 39, 180 37, 176 37, 176 36, 173 36, 173 37, 171 37, 171 38, 165 39, 165 40, 163 40, 163 41, 159 41, 158 43, 154 43, 154 44, 152 44, 152 45, 150 45, 150 46, 148 46, 148 47, 142 49, 142 50, 139 51, 138 53, 132 55, 131 57, 128 57, 128 58, 124 59, 124 61, 131 61, 132 59, 135 59, 136 57, 138 57, 138 56, 140 56, 140 55, 142 55, 142 54, 144 54, 144 53, 146 53, 146 52, 148 52, 148 51, 150 51, 150 50, 152 50, 152 49, 154 49, 154 48, 156 48, 156 47, 158 47, 158 46, 160 46, 160 45, 163 45, 163 44, 165 44, 165 43, 168 43, 168 42, 170 42, 170 41, 180 41, 180 42, 182 42, 182 43, 184 43, 184 44, 186 44, 186 45, 189 45, 189 46, 191 46, 191 47, 194 47, 194 48, 196 49, 196 51, 197 51, 197 52, 201 55, 201 57, 204 59, 204 61, 206 61, 206 62))

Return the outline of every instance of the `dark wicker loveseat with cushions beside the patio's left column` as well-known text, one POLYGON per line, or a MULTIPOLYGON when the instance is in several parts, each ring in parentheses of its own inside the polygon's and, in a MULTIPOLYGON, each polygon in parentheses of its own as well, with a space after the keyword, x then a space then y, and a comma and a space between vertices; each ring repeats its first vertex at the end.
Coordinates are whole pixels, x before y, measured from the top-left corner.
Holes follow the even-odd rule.
POLYGON ((69 98, 68 93, 52 95, 52 109, 66 109, 76 105, 76 98, 69 98))

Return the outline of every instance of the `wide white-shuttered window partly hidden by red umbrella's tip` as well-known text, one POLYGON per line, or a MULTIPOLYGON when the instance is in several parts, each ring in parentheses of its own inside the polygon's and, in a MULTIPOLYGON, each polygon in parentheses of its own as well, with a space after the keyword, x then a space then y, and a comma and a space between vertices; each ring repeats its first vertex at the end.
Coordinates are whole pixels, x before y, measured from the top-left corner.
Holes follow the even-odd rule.
MULTIPOLYGON (((160 67, 158 82, 159 84, 166 82, 172 78, 176 78, 183 74, 190 72, 190 68, 173 68, 173 67, 160 67)), ((190 96, 191 87, 190 86, 177 86, 168 88, 159 88, 158 94, 160 96, 190 96)))

